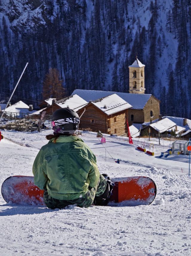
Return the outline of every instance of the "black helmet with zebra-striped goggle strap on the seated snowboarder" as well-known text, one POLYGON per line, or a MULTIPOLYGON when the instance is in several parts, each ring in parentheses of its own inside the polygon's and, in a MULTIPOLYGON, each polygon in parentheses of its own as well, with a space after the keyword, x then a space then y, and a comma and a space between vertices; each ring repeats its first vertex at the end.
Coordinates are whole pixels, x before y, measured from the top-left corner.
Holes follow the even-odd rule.
POLYGON ((54 134, 62 133, 63 135, 74 134, 78 129, 80 118, 72 109, 57 109, 51 118, 51 127, 54 134))

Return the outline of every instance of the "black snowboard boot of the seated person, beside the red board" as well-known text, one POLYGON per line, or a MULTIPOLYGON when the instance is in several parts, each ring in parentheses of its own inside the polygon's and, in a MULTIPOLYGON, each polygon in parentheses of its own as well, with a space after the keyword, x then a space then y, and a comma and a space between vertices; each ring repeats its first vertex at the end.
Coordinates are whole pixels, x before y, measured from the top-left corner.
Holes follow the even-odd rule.
POLYGON ((107 174, 102 174, 102 175, 104 176, 107 182, 106 189, 101 196, 95 196, 94 198, 95 205, 107 205, 109 202, 111 192, 113 190, 113 186, 114 186, 113 181, 110 180, 110 177, 107 174))

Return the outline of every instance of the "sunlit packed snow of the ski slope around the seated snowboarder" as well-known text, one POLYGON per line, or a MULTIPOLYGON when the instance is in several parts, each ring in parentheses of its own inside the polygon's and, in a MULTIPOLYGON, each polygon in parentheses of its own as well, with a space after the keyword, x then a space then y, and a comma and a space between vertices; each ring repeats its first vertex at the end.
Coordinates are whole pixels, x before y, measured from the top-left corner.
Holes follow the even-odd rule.
MULTIPOLYGON (((31 176, 33 161, 51 130, 1 132, 0 185, 12 175, 31 176)), ((130 145, 127 137, 104 135, 105 144, 94 132, 82 132, 80 137, 96 154, 101 173, 153 179, 157 186, 153 203, 50 210, 6 203, 0 196, 0 255, 191 255, 189 156, 158 158, 172 145, 162 139, 158 145, 157 139, 133 138, 130 145)))

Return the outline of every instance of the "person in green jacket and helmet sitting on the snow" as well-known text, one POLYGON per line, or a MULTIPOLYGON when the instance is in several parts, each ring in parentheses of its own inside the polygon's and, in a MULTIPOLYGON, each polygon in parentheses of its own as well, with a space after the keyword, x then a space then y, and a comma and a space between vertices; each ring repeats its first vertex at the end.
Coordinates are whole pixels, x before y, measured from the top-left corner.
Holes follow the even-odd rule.
POLYGON ((89 207, 108 203, 113 183, 107 174, 99 173, 96 156, 75 135, 79 116, 71 109, 57 109, 52 116, 53 135, 41 147, 33 164, 34 182, 44 189, 48 208, 64 208, 70 204, 89 207))

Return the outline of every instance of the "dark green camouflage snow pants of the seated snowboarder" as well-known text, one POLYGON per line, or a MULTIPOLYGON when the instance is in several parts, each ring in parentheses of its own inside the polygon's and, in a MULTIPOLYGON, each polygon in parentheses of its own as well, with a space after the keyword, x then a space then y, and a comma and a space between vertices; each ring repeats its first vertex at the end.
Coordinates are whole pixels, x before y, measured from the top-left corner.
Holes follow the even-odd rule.
POLYGON ((93 204, 95 197, 99 197, 104 194, 106 188, 107 188, 106 179, 104 178, 104 176, 100 174, 98 184, 93 188, 88 188, 87 193, 81 198, 76 198, 71 201, 60 200, 60 199, 51 197, 48 194, 47 190, 44 190, 43 199, 46 206, 50 209, 55 209, 55 208, 61 209, 70 204, 76 204, 79 207, 87 208, 91 204, 93 204))

